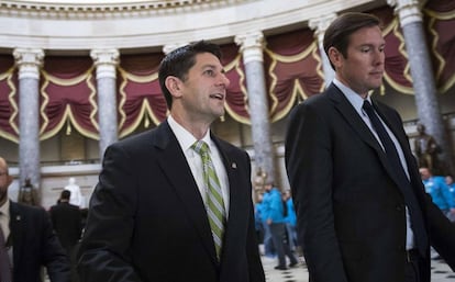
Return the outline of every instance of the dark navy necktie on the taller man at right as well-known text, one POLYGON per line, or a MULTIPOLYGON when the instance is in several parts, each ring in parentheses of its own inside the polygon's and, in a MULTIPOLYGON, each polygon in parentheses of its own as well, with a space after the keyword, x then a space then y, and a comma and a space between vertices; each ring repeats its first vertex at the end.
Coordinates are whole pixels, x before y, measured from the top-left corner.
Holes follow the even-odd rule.
POLYGON ((395 147, 393 142, 391 140, 379 117, 376 115, 375 109, 371 106, 371 104, 365 100, 362 108, 367 113, 373 127, 375 128, 380 142, 382 143, 387 159, 389 160, 389 165, 391 167, 391 171, 393 171, 393 178, 396 179, 396 182, 398 183, 398 187, 403 194, 404 203, 409 208, 417 247, 420 253, 425 257, 428 249, 428 235, 424 228, 422 211, 420 208, 415 194, 412 191, 412 185, 409 182, 407 174, 404 173, 404 169, 398 156, 397 148, 395 147))

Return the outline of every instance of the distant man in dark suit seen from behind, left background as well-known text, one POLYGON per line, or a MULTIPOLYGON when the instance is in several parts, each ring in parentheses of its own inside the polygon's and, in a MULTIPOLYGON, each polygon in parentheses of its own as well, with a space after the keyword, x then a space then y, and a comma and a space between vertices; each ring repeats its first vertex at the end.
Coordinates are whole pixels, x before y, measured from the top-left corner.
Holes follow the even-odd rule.
POLYGON ((51 206, 49 214, 54 230, 71 263, 71 281, 77 281, 74 249, 82 233, 82 218, 79 206, 69 203, 70 196, 71 191, 63 190, 58 203, 51 206))

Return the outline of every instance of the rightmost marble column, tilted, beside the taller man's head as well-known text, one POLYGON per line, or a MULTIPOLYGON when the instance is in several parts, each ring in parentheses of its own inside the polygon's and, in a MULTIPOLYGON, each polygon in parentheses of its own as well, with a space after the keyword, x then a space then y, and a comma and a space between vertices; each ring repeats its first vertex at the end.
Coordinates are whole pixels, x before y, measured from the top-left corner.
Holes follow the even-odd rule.
POLYGON ((387 0, 387 2, 395 7, 403 31, 419 122, 425 126, 426 133, 433 135, 436 139, 442 148, 440 159, 446 163, 448 171, 454 173, 453 149, 450 146, 448 136, 444 128, 436 95, 433 67, 422 23, 421 8, 424 1, 387 0))

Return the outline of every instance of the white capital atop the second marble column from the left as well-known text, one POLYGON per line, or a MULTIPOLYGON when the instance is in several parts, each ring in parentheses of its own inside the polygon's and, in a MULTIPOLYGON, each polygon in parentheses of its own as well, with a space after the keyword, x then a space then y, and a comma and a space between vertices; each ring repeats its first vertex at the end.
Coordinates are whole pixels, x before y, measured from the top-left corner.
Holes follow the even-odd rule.
POLYGON ((92 49, 90 57, 97 67, 97 79, 115 78, 115 66, 120 61, 118 49, 92 49))

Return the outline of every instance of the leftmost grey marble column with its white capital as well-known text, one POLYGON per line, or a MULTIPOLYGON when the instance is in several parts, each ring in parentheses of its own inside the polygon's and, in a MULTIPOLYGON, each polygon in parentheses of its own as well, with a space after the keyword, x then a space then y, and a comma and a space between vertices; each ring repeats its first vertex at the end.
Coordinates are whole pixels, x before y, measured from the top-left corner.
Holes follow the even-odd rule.
POLYGON ((19 68, 19 184, 30 178, 40 191, 40 68, 44 52, 34 48, 13 50, 19 68))

